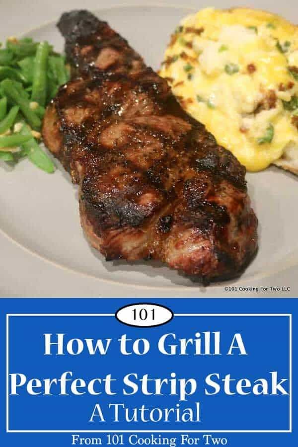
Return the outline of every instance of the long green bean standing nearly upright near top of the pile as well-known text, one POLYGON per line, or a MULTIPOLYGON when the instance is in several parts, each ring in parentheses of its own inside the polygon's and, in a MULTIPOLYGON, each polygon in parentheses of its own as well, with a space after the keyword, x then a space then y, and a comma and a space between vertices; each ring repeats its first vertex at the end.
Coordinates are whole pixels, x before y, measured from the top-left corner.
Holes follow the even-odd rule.
POLYGON ((37 47, 33 83, 32 83, 32 101, 38 102, 41 106, 46 105, 47 99, 47 66, 48 66, 49 44, 40 42, 37 47))

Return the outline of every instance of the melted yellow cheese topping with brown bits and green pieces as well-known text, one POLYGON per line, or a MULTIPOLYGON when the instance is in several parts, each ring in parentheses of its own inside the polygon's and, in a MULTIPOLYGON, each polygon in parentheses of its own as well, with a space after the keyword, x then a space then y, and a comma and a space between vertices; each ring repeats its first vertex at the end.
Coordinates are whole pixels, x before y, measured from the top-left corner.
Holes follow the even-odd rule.
POLYGON ((248 170, 298 146, 298 27, 283 18, 244 8, 189 15, 160 75, 248 170))

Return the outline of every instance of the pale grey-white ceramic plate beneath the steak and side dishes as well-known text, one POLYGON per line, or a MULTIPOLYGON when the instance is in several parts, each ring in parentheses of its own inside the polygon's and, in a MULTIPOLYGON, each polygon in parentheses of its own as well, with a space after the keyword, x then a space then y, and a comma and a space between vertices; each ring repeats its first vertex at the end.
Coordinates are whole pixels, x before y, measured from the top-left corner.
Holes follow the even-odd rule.
MULTIPOLYGON (((169 34, 180 18, 190 12, 191 9, 184 6, 123 6, 102 9, 97 13, 129 40, 148 65, 158 69, 169 34)), ((46 39, 58 51, 63 50, 64 42, 55 22, 42 25, 27 35, 36 40, 46 39)), ((67 281, 72 281, 72 285, 77 282, 80 296, 216 297, 224 295, 224 287, 227 286, 271 285, 290 286, 292 290, 267 296, 297 296, 297 177, 273 167, 261 173, 247 174, 249 193, 259 219, 258 254, 238 280, 205 289, 159 263, 105 262, 84 238, 79 224, 77 189, 61 165, 56 164, 58 169, 53 175, 43 173, 26 160, 13 169, 5 165, 4 170, 3 166, 0 170, 0 240, 9 239, 8 244, 7 240, 5 242, 5 253, 1 253, 2 261, 4 256, 12 257, 11 247, 17 243, 27 250, 27 259, 33 262, 34 258, 41 269, 45 268, 46 262, 52 263, 57 272, 60 270, 56 275, 52 271, 48 277, 45 274, 43 288, 37 287, 38 281, 28 278, 25 283, 28 296, 40 296, 41 293, 41 296, 68 296, 66 291, 60 292, 65 290, 65 285, 60 288, 59 281, 62 286, 64 280, 57 279, 56 289, 53 281, 55 277, 69 278, 70 273, 72 280, 67 281), (91 284, 97 285, 92 292, 91 284)), ((18 273, 22 276, 21 270, 22 264, 18 263, 15 278, 18 273)), ((38 276, 38 271, 36 274, 38 276)), ((0 296, 14 296, 19 290, 17 280, 11 282, 11 274, 6 275, 5 268, 0 271, 0 278, 0 296)), ((239 289, 235 295, 243 296, 239 289)), ((258 295, 263 296, 258 291, 244 296, 258 295)))

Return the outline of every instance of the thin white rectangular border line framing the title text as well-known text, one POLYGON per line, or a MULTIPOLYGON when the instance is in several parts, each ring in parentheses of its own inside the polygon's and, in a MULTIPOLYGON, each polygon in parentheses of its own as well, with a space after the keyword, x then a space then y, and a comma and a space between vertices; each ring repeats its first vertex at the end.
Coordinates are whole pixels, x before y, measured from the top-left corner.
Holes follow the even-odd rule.
POLYGON ((289 430, 9 430, 9 317, 13 316, 106 316, 114 313, 6 313, 6 433, 292 433, 292 314, 291 313, 174 313, 186 316, 270 316, 289 317, 289 430))

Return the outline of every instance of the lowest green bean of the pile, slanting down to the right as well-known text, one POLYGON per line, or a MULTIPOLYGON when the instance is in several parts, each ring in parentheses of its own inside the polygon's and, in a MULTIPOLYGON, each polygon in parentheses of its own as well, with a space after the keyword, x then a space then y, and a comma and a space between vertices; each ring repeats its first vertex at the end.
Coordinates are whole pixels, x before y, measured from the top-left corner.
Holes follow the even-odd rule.
MULTIPOLYGON (((24 125, 20 131, 21 135, 31 136, 30 129, 28 126, 24 125)), ((37 141, 32 138, 24 143, 22 146, 22 151, 24 155, 27 155, 29 160, 35 164, 37 167, 45 172, 51 174, 55 171, 55 165, 51 158, 41 149, 37 141)))

